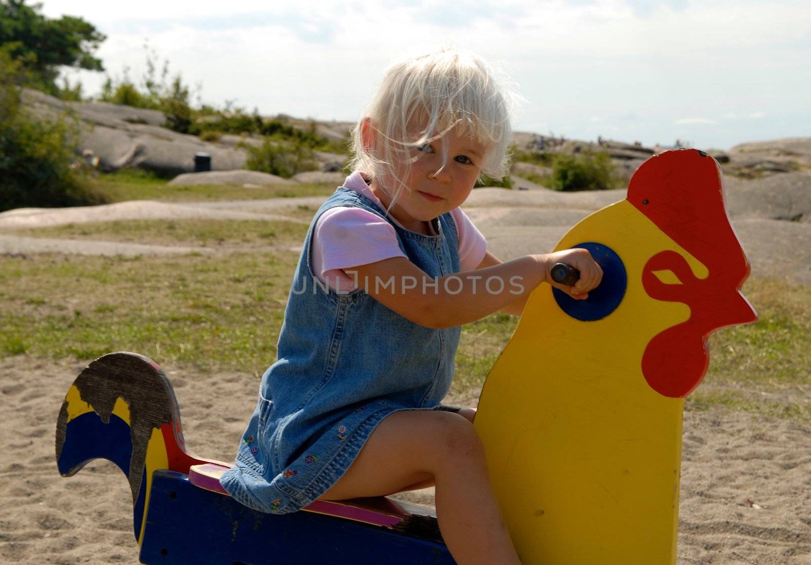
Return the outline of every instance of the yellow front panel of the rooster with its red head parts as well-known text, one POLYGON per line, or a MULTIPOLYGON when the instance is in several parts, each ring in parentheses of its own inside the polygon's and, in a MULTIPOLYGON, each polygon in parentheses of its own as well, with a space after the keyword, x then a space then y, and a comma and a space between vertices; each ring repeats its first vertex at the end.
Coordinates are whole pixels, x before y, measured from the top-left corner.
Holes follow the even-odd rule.
MULTIPOLYGON (((684 373, 684 382, 681 377, 669 382, 667 376, 660 384, 661 364, 675 363, 664 350, 686 351, 693 340, 704 347, 711 329, 754 319, 739 293, 748 262, 740 244, 732 245, 727 236, 728 229, 734 239, 725 212, 721 218, 717 210, 704 211, 725 224, 714 245, 726 245, 723 251, 732 254, 715 264, 707 264, 706 245, 693 245, 692 234, 666 232, 667 213, 664 220, 661 210, 646 213, 647 205, 667 204, 659 198, 663 190, 683 190, 689 200, 696 189, 702 192, 693 196, 694 206, 717 200, 723 211, 723 188, 711 157, 695 150, 665 153, 637 175, 628 200, 584 219, 556 248, 590 242, 616 253, 627 276, 616 308, 584 321, 561 308, 551 287, 537 288, 479 399, 474 425, 525 565, 676 563, 683 396, 706 370, 706 349, 701 374, 686 374, 702 363, 693 352, 694 362, 676 373, 684 373), (701 186, 680 188, 680 177, 701 186), (640 192, 644 197, 635 204, 632 194, 640 192), (703 261, 691 252, 696 250, 703 261), (710 330, 706 324, 693 327, 697 308, 706 308, 706 284, 693 289, 701 300, 692 306, 650 296, 658 285, 684 291, 691 283, 706 283, 713 269, 735 272, 725 278, 731 283, 714 289, 720 298, 710 330), (667 331, 674 328, 680 330, 668 342, 667 331), (665 337, 666 347, 657 336, 665 337)), ((701 217, 698 213, 696 220, 701 217)), ((710 240, 713 233, 706 233, 710 240)), ((608 276, 606 270, 603 284, 611 283, 608 276)))

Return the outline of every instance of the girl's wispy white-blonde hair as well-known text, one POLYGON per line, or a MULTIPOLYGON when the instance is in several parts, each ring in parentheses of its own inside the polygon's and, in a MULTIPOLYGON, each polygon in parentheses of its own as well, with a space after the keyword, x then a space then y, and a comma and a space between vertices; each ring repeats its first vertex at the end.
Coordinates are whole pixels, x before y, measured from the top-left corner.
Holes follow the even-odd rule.
POLYGON ((352 129, 350 165, 377 179, 393 204, 406 189, 398 167, 407 178, 419 157, 413 149, 457 127, 485 147, 480 177, 502 179, 508 171, 510 119, 518 98, 506 84, 496 82, 496 73, 481 58, 453 47, 394 63, 352 129), (366 120, 375 132, 377 155, 363 144, 366 120), (421 129, 415 132, 414 127, 421 129))

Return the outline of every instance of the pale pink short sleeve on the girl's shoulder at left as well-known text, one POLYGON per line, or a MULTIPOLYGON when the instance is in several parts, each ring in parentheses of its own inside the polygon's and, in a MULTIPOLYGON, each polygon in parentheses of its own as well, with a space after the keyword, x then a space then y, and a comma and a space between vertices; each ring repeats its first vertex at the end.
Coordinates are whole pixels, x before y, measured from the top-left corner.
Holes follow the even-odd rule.
POLYGON ((336 206, 320 215, 311 240, 313 274, 338 291, 354 291, 354 278, 343 272, 392 257, 405 257, 394 227, 362 208, 336 206))

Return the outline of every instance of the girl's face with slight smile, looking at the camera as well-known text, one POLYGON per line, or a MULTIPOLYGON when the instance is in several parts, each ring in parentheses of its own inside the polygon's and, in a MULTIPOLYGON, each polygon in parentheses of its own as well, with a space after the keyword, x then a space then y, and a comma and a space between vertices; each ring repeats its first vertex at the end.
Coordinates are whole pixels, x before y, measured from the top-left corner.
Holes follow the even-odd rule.
MULTIPOLYGON (((456 127, 440 139, 412 149, 417 158, 410 173, 405 175, 405 166, 397 167, 406 188, 392 207, 394 218, 407 229, 423 232, 424 222, 457 208, 470 195, 485 152, 483 144, 460 135, 456 127)), ((393 192, 393 187, 386 188, 393 192)), ((391 198, 381 201, 388 206, 391 198)))

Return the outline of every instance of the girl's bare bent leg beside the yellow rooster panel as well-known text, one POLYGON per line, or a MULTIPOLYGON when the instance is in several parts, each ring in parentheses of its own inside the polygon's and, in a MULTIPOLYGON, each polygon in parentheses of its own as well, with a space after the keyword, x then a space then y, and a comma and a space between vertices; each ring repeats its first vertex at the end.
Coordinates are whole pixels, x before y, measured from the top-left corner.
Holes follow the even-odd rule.
POLYGON ((521 563, 487 476, 482 442, 460 414, 403 411, 387 416, 321 498, 381 496, 431 481, 436 481, 442 537, 457 563, 521 563))

